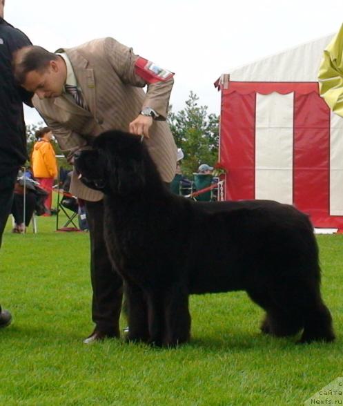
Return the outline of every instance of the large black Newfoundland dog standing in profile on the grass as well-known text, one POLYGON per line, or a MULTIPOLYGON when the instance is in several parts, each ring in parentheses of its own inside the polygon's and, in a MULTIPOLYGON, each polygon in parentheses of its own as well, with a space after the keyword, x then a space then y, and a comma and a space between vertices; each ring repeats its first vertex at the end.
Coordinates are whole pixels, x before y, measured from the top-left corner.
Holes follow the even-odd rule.
POLYGON ((126 283, 129 340, 190 338, 188 296, 244 290, 266 311, 262 331, 333 341, 320 295, 313 227, 271 201, 193 202, 170 193, 140 137, 108 131, 75 166, 105 193, 105 237, 126 283))

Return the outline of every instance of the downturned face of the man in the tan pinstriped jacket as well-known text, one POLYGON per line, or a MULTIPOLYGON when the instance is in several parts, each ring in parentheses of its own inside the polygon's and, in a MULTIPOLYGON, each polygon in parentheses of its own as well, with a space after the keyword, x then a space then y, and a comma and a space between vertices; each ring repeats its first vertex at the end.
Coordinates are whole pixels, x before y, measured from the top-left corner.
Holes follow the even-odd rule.
POLYGON ((39 99, 51 99, 61 95, 65 81, 66 76, 57 62, 50 61, 45 70, 28 72, 22 86, 29 92, 35 93, 39 99))

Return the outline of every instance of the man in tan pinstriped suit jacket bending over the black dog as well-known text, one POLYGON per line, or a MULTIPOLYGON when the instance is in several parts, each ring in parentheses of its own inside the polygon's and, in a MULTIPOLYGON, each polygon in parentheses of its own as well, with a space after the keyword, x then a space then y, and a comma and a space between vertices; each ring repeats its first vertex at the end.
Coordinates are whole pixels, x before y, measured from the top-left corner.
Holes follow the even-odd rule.
MULTIPOLYGON (((14 76, 35 93, 33 104, 70 162, 97 135, 117 128, 144 136, 162 180, 173 180, 177 148, 165 121, 173 73, 106 38, 55 53, 39 46, 22 48, 14 57, 14 76)), ((102 193, 81 184, 76 174, 70 192, 86 200, 90 228, 95 329, 84 340, 88 344, 119 337, 122 280, 108 258, 102 193)))

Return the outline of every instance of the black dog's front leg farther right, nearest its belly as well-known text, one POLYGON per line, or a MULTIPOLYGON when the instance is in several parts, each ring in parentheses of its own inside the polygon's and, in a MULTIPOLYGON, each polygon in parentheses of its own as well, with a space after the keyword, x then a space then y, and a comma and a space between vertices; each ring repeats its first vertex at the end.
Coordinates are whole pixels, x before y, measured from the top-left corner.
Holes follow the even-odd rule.
POLYGON ((190 313, 188 293, 179 284, 174 284, 164 296, 166 328, 163 344, 175 347, 190 339, 190 313))

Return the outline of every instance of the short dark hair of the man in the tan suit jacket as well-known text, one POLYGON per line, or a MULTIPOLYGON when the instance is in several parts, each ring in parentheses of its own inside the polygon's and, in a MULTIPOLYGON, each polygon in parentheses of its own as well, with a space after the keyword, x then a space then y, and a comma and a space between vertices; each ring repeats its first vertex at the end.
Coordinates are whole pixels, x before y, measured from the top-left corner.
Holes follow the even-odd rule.
POLYGON ((41 46, 26 46, 14 52, 13 74, 18 84, 23 84, 26 75, 32 70, 46 70, 50 61, 56 61, 58 56, 41 46))

